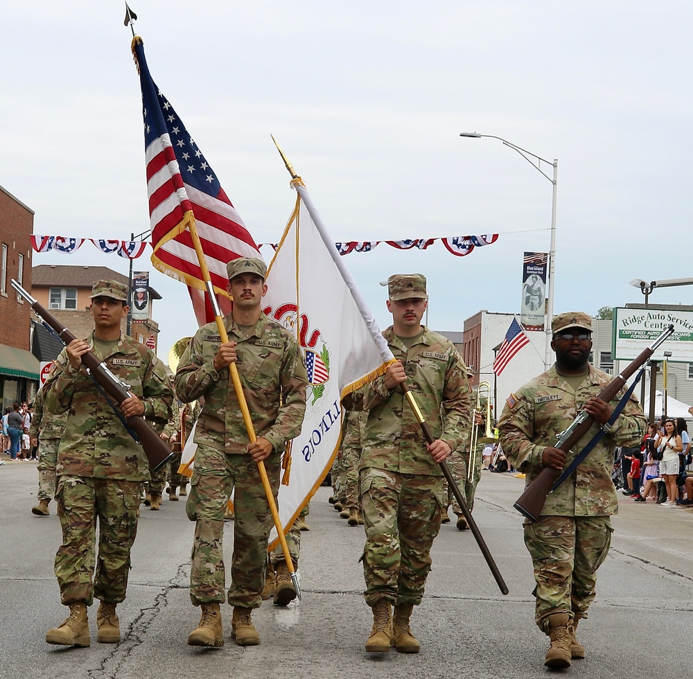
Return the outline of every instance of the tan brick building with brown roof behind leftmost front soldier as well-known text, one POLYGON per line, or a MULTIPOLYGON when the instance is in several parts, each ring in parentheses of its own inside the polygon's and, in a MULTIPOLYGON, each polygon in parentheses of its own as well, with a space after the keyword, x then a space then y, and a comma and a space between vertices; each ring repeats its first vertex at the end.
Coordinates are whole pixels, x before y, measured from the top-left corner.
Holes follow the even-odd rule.
MULTIPOLYGON (((94 329, 94 321, 89 312, 89 295, 94 281, 118 281, 128 285, 128 276, 101 266, 41 264, 33 267, 31 276, 33 297, 60 319, 76 337, 88 337, 94 329)), ((161 295, 154 288, 149 288, 148 317, 142 321, 131 321, 130 336, 142 344, 153 337, 156 351, 159 324, 151 318, 152 299, 161 299, 161 295)), ((123 334, 126 328, 127 319, 123 319, 123 334)))

